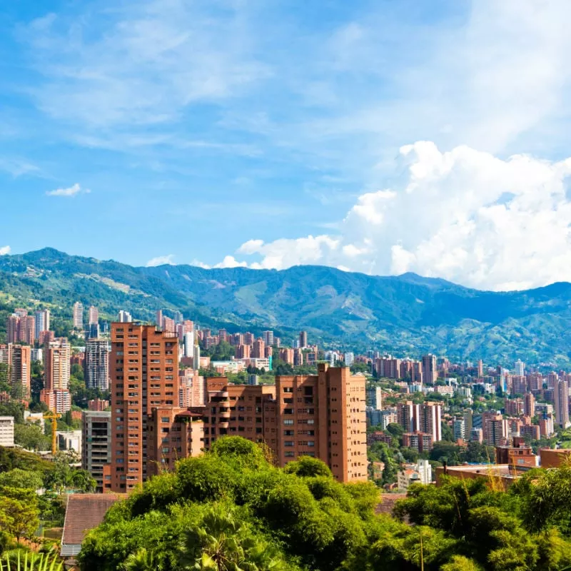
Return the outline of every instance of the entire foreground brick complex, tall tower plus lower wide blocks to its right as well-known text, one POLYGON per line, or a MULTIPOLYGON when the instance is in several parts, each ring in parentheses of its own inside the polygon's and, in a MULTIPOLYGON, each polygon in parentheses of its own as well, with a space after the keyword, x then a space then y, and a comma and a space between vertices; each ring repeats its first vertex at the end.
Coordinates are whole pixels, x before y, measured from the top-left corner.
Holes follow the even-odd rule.
POLYGON ((181 408, 177 343, 155 325, 111 325, 111 490, 128 492, 223 435, 266 443, 280 466, 309 455, 342 482, 366 480, 363 376, 319 364, 276 385, 207 378, 205 406, 181 408))

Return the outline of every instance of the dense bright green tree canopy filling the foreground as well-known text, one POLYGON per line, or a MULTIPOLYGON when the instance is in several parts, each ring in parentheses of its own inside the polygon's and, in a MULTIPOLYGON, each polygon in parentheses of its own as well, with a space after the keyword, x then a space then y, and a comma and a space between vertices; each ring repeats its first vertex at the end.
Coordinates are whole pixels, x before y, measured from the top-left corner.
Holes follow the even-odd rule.
MULTIPOLYGON (((493 483, 493 482, 491 482, 493 483)), ((547 571, 571 565, 571 469, 535 470, 508 492, 486 480, 413 485, 398 518, 378 489, 343 485, 319 460, 285 469, 221 438, 154 477, 93 530, 84 571, 547 571), (410 525, 412 523, 413 525, 410 525)))

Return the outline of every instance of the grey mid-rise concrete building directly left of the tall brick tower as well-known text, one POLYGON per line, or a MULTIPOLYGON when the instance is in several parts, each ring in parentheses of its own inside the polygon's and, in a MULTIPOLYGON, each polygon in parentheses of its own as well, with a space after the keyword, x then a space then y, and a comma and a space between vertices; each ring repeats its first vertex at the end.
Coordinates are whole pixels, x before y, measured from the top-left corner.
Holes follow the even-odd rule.
POLYGON ((111 464, 111 411, 81 411, 81 468, 87 470, 103 492, 103 466, 111 464))

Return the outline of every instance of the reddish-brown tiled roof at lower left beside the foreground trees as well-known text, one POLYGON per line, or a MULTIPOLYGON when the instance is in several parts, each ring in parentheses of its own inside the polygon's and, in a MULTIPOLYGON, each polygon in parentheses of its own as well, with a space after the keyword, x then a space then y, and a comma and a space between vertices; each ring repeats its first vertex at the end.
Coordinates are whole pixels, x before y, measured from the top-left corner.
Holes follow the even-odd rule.
POLYGON ((103 522, 107 510, 125 494, 70 494, 61 545, 81 545, 89 530, 103 522))

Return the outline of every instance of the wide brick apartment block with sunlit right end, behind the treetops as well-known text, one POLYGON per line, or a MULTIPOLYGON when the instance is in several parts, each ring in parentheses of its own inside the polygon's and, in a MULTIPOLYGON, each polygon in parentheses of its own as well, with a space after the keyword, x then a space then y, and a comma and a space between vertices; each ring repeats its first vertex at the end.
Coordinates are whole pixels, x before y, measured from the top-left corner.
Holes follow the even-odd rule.
POLYGON ((280 466, 313 456, 342 482, 366 480, 362 375, 320 363, 318 375, 278 376, 276 385, 231 385, 220 377, 206 383, 205 448, 220 436, 238 435, 266 443, 280 466))

